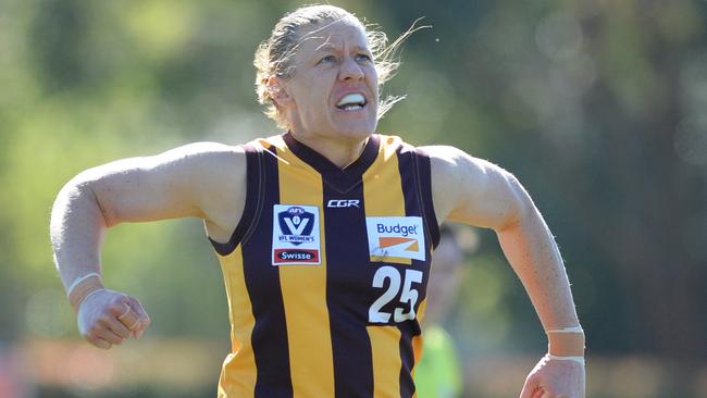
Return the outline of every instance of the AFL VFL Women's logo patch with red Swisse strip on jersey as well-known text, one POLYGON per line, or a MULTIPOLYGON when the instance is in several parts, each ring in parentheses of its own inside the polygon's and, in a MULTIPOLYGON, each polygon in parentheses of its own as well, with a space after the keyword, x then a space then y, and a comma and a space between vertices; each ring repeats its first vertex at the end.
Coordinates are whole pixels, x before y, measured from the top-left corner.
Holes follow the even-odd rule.
POLYGON ((273 206, 272 264, 320 264, 319 208, 273 206))

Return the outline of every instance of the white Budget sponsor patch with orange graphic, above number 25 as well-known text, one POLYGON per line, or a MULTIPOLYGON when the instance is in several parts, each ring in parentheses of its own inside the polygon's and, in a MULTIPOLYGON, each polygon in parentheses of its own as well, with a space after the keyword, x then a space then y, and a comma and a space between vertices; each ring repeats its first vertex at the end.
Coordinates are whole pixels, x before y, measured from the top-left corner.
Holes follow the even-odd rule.
POLYGON ((365 217, 372 258, 425 259, 422 217, 365 217))

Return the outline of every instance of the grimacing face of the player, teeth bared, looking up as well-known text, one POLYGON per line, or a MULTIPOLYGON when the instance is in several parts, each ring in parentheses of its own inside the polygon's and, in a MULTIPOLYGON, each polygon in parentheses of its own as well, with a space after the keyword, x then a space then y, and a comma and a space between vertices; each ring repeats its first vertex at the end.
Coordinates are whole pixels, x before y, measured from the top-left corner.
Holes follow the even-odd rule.
POLYGON ((361 139, 375 133, 379 82, 362 27, 324 21, 302 28, 292 77, 277 100, 300 137, 361 139))

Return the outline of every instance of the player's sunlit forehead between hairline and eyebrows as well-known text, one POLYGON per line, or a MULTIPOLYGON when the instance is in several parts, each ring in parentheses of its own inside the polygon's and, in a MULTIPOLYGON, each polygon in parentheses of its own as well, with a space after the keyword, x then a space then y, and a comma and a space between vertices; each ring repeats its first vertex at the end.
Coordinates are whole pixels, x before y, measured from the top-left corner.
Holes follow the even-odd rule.
POLYGON ((368 39, 363 26, 348 18, 323 21, 302 28, 299 51, 303 53, 359 47, 368 50, 368 39))

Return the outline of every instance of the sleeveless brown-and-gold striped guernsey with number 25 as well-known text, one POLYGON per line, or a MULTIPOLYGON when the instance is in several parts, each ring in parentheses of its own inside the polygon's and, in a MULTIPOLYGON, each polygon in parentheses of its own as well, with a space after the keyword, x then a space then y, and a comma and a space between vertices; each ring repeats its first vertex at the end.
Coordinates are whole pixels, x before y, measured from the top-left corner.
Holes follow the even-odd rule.
POLYGON ((232 340, 219 397, 413 397, 439 239, 429 157, 382 135, 344 170, 289 133, 245 148, 243 217, 211 241, 232 340))

